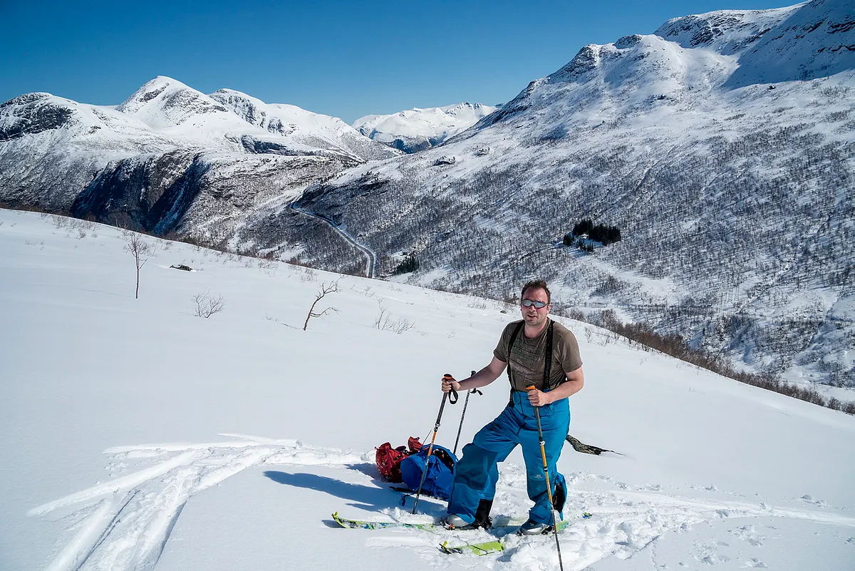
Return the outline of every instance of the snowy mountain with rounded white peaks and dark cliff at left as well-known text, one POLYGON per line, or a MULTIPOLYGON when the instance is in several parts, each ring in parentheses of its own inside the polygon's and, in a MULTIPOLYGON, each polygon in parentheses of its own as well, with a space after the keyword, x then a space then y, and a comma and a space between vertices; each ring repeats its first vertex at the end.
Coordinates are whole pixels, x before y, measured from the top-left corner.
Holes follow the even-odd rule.
POLYGON ((192 221, 224 246, 254 209, 398 154, 335 117, 167 77, 115 109, 47 93, 0 105, 0 201, 157 233, 192 221))

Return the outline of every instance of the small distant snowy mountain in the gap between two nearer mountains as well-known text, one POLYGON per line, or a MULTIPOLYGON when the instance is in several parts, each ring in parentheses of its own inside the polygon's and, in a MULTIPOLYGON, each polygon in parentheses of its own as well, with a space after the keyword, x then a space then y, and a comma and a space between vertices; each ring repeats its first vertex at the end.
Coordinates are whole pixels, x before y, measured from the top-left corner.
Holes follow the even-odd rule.
POLYGON ((368 138, 413 153, 463 132, 499 107, 466 102, 446 107, 410 109, 392 115, 365 115, 352 125, 368 138))

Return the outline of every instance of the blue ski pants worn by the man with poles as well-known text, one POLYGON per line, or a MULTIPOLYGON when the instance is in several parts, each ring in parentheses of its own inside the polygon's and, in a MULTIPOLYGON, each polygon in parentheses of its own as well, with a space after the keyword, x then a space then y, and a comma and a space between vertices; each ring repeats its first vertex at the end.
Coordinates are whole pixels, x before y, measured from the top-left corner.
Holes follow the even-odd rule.
MULTIPOLYGON (((563 475, 557 474, 556 462, 561 455, 570 426, 569 399, 563 398, 540 407, 540 426, 543 429, 552 493, 554 495, 556 487, 561 486, 563 497, 566 497, 566 484, 563 475)), ((451 486, 449 514, 459 515, 470 523, 475 521, 475 512, 481 499, 492 500, 496 495, 498 462, 504 462, 516 448, 516 444, 522 445, 528 497, 534 502, 534 507, 528 511, 528 517, 542 523, 552 521, 537 420, 534 417, 534 407, 528 402, 528 393, 525 391, 512 391, 508 406, 496 420, 481 428, 472 443, 463 447, 463 457, 457 462, 454 485, 451 486)))

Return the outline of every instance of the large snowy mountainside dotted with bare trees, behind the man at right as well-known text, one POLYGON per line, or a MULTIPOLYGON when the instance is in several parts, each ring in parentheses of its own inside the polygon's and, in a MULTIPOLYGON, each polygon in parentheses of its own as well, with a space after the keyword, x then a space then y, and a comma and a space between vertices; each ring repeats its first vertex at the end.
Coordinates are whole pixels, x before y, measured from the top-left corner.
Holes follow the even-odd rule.
MULTIPOLYGON (((843 0, 676 18, 587 45, 441 148, 297 206, 380 272, 416 256, 414 284, 504 298, 543 276, 567 306, 855 385, 853 46, 843 0), (583 218, 622 241, 564 245, 583 218)), ((301 244, 309 262, 319 248, 301 244)))

